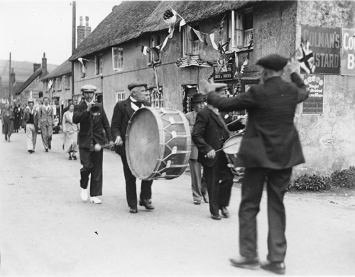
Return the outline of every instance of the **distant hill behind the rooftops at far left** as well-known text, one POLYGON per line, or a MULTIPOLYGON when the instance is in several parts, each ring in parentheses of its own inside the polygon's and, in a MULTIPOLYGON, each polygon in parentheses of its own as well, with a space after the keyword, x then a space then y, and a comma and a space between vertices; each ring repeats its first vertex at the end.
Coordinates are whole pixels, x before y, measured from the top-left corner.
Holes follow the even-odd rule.
MULTIPOLYGON (((38 63, 42 63, 42 59, 38 60, 38 63)), ((16 74, 16 82, 25 82, 33 74, 33 63, 31 62, 16 62, 11 60, 11 67, 16 74)), ((52 72, 56 67, 58 65, 47 64, 48 72, 52 72)), ((0 60, 0 76, 3 84, 9 83, 9 60, 0 60)))

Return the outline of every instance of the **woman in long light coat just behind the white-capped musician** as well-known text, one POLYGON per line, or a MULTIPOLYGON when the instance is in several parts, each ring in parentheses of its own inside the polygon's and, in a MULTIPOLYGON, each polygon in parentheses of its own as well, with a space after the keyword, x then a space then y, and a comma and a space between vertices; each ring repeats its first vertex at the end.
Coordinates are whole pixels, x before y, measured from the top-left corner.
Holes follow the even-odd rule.
POLYGON ((77 160, 77 124, 72 122, 74 104, 63 114, 62 128, 64 132, 64 151, 69 153, 69 160, 77 160))

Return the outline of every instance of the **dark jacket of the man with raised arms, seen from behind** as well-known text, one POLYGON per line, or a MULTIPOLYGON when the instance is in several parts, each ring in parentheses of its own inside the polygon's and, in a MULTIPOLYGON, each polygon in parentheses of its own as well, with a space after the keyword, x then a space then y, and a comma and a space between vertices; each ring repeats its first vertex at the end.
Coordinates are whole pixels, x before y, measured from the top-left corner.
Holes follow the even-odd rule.
POLYGON ((209 93, 207 102, 219 110, 248 111, 236 165, 281 169, 305 162, 293 119, 297 104, 307 99, 308 94, 297 73, 291 75, 291 80, 271 77, 230 99, 209 93))

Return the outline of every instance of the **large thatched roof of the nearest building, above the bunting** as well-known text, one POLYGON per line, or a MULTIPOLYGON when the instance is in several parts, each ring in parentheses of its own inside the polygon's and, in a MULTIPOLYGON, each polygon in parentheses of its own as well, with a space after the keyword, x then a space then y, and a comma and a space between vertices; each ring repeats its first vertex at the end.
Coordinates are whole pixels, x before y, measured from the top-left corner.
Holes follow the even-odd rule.
POLYGON ((226 11, 251 6, 253 1, 122 1, 77 47, 71 60, 99 53, 146 33, 168 29, 163 13, 169 7, 186 23, 222 16, 226 11))

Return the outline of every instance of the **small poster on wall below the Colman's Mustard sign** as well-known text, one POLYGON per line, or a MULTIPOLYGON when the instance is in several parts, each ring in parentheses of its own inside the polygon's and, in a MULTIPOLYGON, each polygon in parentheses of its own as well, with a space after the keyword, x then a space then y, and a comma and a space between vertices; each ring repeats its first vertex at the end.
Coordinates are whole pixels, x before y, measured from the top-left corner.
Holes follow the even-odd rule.
POLYGON ((324 76, 305 75, 303 83, 306 85, 310 97, 303 102, 302 114, 323 114, 324 76))

